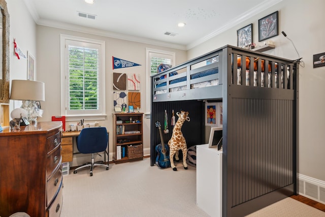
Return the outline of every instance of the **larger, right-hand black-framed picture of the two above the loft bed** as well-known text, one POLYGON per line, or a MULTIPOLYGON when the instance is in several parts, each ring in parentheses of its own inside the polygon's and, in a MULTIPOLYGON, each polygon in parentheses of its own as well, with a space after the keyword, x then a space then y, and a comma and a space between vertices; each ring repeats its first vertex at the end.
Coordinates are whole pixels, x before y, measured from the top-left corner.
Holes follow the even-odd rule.
POLYGON ((258 20, 258 41, 279 35, 278 11, 258 20))

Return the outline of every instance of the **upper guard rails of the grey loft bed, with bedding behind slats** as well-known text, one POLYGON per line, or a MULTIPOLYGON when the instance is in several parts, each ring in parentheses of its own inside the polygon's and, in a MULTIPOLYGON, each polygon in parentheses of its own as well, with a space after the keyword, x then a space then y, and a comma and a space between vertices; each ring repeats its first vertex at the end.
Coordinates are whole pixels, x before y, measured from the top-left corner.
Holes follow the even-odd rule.
POLYGON ((152 76, 152 102, 222 98, 226 75, 232 85, 293 90, 294 73, 291 60, 227 45, 152 76))

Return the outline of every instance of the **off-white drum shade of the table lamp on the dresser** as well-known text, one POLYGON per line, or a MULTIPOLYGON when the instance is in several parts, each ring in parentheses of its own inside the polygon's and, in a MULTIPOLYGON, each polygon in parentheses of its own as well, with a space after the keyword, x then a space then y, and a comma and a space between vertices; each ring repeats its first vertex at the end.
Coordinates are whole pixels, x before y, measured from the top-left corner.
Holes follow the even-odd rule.
POLYGON ((10 99, 45 101, 45 84, 40 81, 12 80, 10 99))

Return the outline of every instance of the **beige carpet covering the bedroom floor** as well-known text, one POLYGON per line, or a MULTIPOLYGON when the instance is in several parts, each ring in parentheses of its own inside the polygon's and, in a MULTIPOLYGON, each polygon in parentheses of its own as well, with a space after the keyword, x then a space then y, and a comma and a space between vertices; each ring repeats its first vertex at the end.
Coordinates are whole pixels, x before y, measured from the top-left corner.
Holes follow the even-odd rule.
MULTIPOLYGON (((196 168, 177 171, 150 166, 150 159, 110 164, 63 176, 61 217, 209 216, 196 205, 196 168)), ((251 216, 325 216, 325 212, 287 198, 251 216)))

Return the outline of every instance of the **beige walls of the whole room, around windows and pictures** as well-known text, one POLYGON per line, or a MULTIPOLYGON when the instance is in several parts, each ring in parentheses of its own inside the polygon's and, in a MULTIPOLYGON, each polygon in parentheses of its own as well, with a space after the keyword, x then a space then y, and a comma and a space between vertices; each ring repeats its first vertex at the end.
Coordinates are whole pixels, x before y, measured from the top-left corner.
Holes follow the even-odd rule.
MULTIPOLYGON (((279 11, 279 32, 282 30, 294 41, 300 56, 303 57, 305 67, 300 68, 299 87, 299 173, 325 181, 325 67, 313 69, 312 55, 325 52, 325 1, 296 1, 283 0, 278 5, 267 9, 260 14, 238 23, 213 39, 188 50, 188 52, 167 49, 164 47, 150 46, 148 44, 127 42, 107 37, 94 36, 71 32, 68 30, 37 26, 29 15, 23 0, 7 1, 10 17, 10 79, 26 79, 26 60, 17 60, 13 56, 13 38, 16 38, 18 45, 27 54, 27 50, 36 55, 37 80, 46 84, 46 101, 42 103, 44 116, 42 120, 49 121, 52 115, 60 112, 60 61, 59 61, 59 34, 75 35, 92 39, 104 40, 106 42, 106 107, 107 119, 101 124, 112 131, 112 63, 111 56, 117 56, 129 61, 141 64, 141 67, 133 67, 123 70, 126 73, 145 74, 145 48, 175 51, 177 64, 186 59, 194 58, 208 51, 217 49, 225 44, 237 45, 236 30, 249 23, 253 23, 253 41, 258 44, 257 20, 278 10, 279 11), (187 55, 187 57, 186 57, 187 55)), ((267 51, 270 54, 296 59, 298 55, 290 41, 281 34, 272 40, 277 46, 276 49, 267 51)), ((120 72, 122 70, 116 70, 120 72)), ((145 83, 145 77, 141 76, 141 82, 145 83)), ((145 107, 145 86, 141 86, 141 103, 145 107)), ((12 104, 12 102, 11 102, 12 104)), ((149 119, 144 121, 144 147, 148 150, 150 146, 149 119)), ((110 150, 111 149, 110 138, 110 150)))

